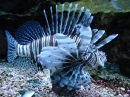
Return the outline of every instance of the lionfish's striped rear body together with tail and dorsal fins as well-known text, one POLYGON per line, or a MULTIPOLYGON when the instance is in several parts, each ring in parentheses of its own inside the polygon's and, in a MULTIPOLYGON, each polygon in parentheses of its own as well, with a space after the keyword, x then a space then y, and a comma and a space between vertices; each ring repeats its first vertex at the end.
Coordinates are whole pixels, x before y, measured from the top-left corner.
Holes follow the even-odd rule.
POLYGON ((89 10, 86 10, 84 16, 81 17, 84 7, 81 8, 78 16, 76 16, 76 9, 78 5, 74 7, 74 11, 70 17, 70 11, 72 9, 72 4, 69 5, 67 17, 64 17, 64 4, 62 4, 61 17, 58 18, 58 6, 56 5, 56 16, 53 16, 52 7, 50 7, 51 14, 51 27, 47 19, 46 11, 44 10, 44 15, 46 19, 46 25, 43 28, 36 21, 28 21, 20 26, 16 32, 15 39, 6 31, 6 36, 8 37, 9 49, 13 49, 14 52, 8 50, 8 61, 13 61, 16 56, 27 56, 36 57, 43 47, 46 46, 55 46, 56 42, 53 38, 55 33, 62 33, 74 39, 78 44, 78 29, 76 25, 78 23, 84 24, 86 26, 90 25, 92 16, 89 10), (87 18, 86 18, 87 15, 87 18), (76 17, 77 19, 74 19, 76 17), (82 18, 82 19, 80 19, 82 18), (64 19, 64 20, 63 20, 64 19), (85 19, 88 19, 87 23, 84 22, 85 19), (39 48, 39 49, 38 49, 39 48))

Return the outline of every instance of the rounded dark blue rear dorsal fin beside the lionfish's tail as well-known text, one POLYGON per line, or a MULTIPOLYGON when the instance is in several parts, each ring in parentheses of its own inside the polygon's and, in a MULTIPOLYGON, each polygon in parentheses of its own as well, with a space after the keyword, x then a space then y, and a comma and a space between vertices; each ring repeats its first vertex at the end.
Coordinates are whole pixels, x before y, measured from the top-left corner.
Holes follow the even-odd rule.
POLYGON ((46 35, 37 21, 28 21, 16 31, 15 37, 19 44, 25 45, 46 35))

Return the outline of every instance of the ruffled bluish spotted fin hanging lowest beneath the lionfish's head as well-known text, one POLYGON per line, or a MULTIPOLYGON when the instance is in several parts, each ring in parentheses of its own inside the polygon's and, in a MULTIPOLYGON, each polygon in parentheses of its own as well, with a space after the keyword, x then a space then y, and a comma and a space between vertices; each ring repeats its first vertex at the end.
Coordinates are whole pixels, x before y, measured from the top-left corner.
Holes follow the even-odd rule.
POLYGON ((80 89, 81 86, 87 87, 91 83, 91 76, 87 73, 82 65, 72 67, 69 71, 60 75, 59 72, 54 74, 53 82, 58 83, 60 87, 67 86, 70 91, 72 89, 80 89))

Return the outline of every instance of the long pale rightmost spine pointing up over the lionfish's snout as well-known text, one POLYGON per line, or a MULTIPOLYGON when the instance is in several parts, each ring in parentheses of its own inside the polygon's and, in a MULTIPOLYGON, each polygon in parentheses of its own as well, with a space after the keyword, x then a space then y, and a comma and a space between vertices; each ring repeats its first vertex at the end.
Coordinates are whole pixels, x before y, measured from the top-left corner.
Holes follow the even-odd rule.
POLYGON ((104 46, 105 44, 109 43, 111 40, 113 40, 114 38, 116 38, 118 36, 118 34, 112 34, 110 36, 108 36, 107 38, 105 38, 103 41, 101 41, 100 43, 98 43, 96 45, 96 48, 99 49, 102 46, 104 46))

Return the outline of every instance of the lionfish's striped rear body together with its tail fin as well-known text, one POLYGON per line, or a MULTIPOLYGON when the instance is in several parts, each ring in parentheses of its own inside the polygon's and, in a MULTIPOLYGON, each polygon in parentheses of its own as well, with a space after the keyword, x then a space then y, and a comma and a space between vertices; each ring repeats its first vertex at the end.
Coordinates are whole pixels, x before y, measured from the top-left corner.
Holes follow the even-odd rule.
POLYGON ((6 36, 7 36, 8 42, 12 40, 14 41, 9 44, 9 45, 14 45, 14 47, 11 46, 11 49, 14 49, 14 50, 12 52, 10 51, 10 48, 8 48, 8 62, 13 61, 17 56, 31 57, 35 62, 37 62, 38 61, 37 55, 41 52, 41 49, 43 47, 57 45, 53 36, 43 36, 25 45, 20 44, 17 41, 15 41, 8 31, 6 31, 6 36))

